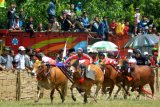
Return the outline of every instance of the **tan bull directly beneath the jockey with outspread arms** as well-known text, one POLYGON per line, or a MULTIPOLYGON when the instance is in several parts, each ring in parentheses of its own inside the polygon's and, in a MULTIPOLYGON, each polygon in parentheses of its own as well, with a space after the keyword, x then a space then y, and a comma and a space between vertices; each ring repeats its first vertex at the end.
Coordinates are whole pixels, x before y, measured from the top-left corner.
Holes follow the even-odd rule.
MULTIPOLYGON (((75 63, 75 60, 74 61, 71 61, 71 65, 75 65, 73 64, 75 63)), ((87 103, 88 100, 87 98, 91 95, 91 87, 95 84, 97 87, 96 87, 96 92, 95 92, 95 96, 93 97, 94 100, 96 101, 95 97, 98 95, 98 92, 99 90, 101 89, 102 87, 102 83, 103 83, 103 80, 104 80, 104 74, 101 70, 101 68, 97 65, 93 65, 93 64, 89 64, 89 61, 85 61, 85 65, 90 67, 91 70, 94 72, 95 74, 95 79, 92 80, 92 79, 89 79, 89 78, 86 78, 84 76, 84 80, 83 82, 80 82, 80 80, 82 80, 81 78, 81 73, 82 73, 82 69, 80 68, 79 64, 77 66, 71 66, 70 69, 72 70, 73 72, 73 84, 71 86, 71 94, 72 94, 72 99, 74 101, 76 101, 76 98, 73 94, 73 89, 78 87, 80 88, 81 90, 84 91, 84 103, 87 103)))

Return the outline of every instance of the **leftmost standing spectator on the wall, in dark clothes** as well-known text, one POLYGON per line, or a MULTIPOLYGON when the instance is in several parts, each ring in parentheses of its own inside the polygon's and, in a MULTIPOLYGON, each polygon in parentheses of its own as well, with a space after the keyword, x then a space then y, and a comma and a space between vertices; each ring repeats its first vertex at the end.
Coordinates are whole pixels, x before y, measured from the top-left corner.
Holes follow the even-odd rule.
POLYGON ((14 23, 15 19, 15 13, 16 13, 16 3, 11 3, 11 6, 7 12, 7 18, 8 18, 8 28, 11 29, 14 23))

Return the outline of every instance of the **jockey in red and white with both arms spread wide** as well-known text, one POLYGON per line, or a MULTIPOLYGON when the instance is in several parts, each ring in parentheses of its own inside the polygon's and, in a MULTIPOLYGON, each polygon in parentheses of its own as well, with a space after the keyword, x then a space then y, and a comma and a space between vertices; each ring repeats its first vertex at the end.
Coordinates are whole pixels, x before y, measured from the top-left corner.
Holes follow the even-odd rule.
POLYGON ((92 64, 93 63, 93 59, 89 55, 83 53, 83 49, 82 48, 78 48, 77 53, 72 55, 71 57, 69 57, 64 62, 64 64, 68 64, 73 59, 77 59, 79 61, 79 64, 80 64, 80 67, 81 67, 81 70, 82 70, 81 77, 83 77, 84 76, 84 72, 86 71, 86 68, 87 68, 87 65, 84 64, 85 60, 89 60, 89 64, 92 64))

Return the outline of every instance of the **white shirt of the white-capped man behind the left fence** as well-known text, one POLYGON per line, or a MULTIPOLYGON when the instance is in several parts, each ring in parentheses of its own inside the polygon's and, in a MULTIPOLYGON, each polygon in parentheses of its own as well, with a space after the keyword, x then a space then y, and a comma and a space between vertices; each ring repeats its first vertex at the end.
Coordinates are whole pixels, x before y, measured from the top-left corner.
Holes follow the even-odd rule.
POLYGON ((14 58, 15 62, 18 63, 17 69, 25 69, 25 55, 17 54, 14 58))

